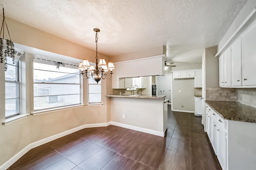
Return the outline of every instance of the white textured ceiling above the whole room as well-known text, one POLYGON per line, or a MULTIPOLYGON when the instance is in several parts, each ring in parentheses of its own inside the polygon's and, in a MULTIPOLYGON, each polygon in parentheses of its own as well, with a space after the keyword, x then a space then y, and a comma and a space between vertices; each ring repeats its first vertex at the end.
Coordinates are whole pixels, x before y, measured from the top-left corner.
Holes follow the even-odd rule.
POLYGON ((174 62, 201 61, 247 0, 0 0, 5 16, 108 56, 166 45, 174 62))

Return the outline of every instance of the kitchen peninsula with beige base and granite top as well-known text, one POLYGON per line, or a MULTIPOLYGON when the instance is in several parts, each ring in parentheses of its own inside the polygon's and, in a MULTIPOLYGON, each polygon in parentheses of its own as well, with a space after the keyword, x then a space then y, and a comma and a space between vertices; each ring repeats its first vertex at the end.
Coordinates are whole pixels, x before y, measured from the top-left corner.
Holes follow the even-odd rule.
POLYGON ((106 95, 112 125, 164 137, 167 129, 166 96, 106 95))

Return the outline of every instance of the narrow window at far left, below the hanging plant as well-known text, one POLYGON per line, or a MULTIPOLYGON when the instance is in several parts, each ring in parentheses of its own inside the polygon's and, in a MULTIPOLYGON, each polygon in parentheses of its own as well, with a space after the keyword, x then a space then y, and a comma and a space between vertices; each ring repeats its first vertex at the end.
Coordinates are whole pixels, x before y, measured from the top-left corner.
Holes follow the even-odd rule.
POLYGON ((13 64, 12 59, 7 57, 8 68, 5 71, 5 117, 19 114, 19 82, 18 61, 13 64))

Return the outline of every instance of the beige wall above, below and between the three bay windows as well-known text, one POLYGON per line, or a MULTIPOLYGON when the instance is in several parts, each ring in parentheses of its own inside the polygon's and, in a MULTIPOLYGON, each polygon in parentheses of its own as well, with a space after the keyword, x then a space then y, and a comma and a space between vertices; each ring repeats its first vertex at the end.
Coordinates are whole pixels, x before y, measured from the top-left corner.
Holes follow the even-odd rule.
MULTIPOLYGON (((39 29, 8 19, 8 28, 12 41, 21 45, 58 53, 65 56, 83 59, 86 57, 94 62, 95 51, 56 37, 39 29)), ((106 61, 109 57, 99 54, 106 61)), ((4 91, 4 64, 0 64, 0 90, 4 91)), ((31 82, 28 80, 26 82, 31 82)), ((83 81, 84 104, 87 103, 87 80, 83 81)), ((100 106, 83 106, 56 111, 42 115, 29 115, 27 118, 9 125, 0 125, 0 165, 12 158, 30 143, 56 135, 58 133, 90 123, 106 123, 110 121, 108 100, 105 97, 111 91, 111 80, 102 81, 102 103, 100 106)), ((33 84, 25 84, 27 89, 33 89, 33 84)), ((29 97, 28 95, 26 97, 29 97)), ((4 121, 4 95, 0 94, 0 120, 4 121)), ((28 107, 33 99, 28 100, 28 107)), ((26 111, 25 111, 26 112, 26 111)))

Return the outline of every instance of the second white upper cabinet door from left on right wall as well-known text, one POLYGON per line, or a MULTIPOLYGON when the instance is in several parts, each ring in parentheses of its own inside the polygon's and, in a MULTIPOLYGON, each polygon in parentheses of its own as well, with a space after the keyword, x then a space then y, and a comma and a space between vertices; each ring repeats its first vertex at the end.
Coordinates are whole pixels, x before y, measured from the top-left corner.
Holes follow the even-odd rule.
POLYGON ((231 48, 224 52, 224 86, 231 86, 231 48))

